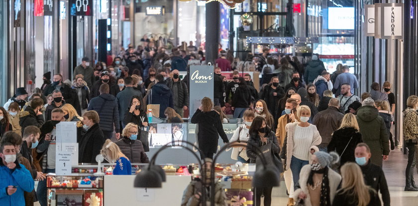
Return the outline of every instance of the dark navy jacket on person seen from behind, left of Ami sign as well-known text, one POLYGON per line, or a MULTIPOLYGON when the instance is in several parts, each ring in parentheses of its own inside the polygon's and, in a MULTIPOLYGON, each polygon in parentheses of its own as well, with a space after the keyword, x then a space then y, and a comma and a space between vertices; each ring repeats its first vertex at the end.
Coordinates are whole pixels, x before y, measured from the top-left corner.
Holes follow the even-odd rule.
POLYGON ((151 88, 147 104, 160 104, 160 118, 166 118, 165 109, 167 107, 174 108, 173 93, 164 82, 159 82, 151 88))

